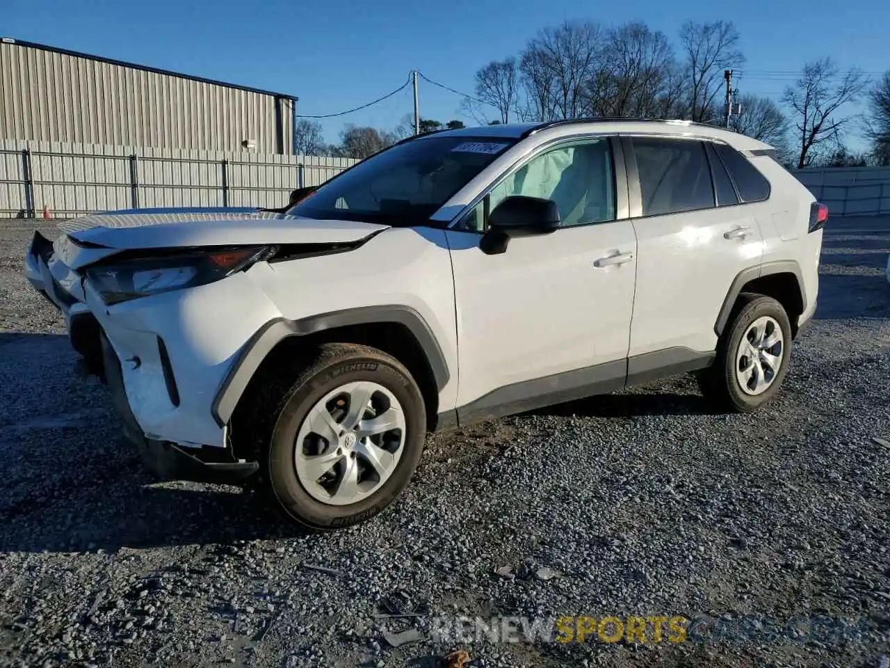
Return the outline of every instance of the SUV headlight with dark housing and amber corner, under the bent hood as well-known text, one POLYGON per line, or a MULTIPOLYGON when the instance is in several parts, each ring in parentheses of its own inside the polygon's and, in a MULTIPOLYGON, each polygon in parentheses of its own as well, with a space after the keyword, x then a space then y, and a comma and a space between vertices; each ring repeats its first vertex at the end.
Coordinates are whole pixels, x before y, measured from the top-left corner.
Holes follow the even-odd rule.
POLYGON ((272 250, 263 246, 175 252, 88 268, 85 275, 105 303, 112 305, 219 281, 269 257, 272 250))

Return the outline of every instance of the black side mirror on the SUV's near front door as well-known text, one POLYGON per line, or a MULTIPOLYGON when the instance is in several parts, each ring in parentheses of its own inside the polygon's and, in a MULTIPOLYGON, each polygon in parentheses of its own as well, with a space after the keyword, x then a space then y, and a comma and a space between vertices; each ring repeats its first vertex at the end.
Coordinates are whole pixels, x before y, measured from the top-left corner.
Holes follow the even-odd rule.
POLYGON ((498 255, 506 251, 513 237, 549 234, 559 225, 559 208, 554 200, 511 195, 489 214, 489 229, 479 247, 487 255, 498 255))

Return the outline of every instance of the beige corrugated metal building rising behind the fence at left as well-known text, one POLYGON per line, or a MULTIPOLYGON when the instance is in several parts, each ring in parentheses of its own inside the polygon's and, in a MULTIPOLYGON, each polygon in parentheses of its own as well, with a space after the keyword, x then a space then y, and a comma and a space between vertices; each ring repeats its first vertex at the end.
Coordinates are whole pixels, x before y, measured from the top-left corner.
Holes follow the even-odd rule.
POLYGON ((294 154, 297 98, 0 40, 0 138, 294 154))

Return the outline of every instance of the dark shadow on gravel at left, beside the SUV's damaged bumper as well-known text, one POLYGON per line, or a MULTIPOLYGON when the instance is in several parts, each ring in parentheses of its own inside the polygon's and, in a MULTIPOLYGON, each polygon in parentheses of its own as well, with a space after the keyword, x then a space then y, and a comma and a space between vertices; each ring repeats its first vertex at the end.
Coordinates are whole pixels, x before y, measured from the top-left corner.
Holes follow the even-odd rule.
POLYGON ((76 361, 64 335, 0 332, 0 554, 303 534, 259 494, 153 477, 76 361))

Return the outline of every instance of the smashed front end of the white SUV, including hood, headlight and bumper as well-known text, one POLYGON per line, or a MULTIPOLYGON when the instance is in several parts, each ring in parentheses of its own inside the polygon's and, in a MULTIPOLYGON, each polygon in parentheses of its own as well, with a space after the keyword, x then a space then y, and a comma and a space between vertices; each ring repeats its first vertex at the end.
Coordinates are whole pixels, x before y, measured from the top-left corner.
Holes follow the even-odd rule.
POLYGON ((77 371, 109 387, 149 468, 237 483, 259 467, 236 456, 214 400, 244 346, 281 318, 264 289, 275 265, 348 252, 386 226, 189 216, 86 216, 54 241, 35 232, 25 273, 64 316, 77 371))

